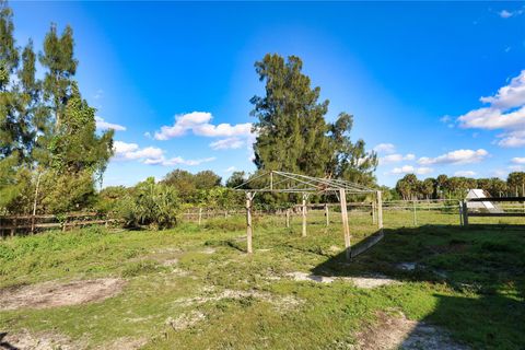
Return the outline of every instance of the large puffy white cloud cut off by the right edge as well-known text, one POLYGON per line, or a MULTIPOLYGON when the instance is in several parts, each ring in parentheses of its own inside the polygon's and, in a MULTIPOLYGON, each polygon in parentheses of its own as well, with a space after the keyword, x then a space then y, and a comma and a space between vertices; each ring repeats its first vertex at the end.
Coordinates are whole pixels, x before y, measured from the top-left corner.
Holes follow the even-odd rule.
POLYGON ((481 97, 488 107, 472 109, 457 118, 462 128, 505 130, 499 136, 501 147, 525 145, 525 70, 511 79, 492 96, 481 97))

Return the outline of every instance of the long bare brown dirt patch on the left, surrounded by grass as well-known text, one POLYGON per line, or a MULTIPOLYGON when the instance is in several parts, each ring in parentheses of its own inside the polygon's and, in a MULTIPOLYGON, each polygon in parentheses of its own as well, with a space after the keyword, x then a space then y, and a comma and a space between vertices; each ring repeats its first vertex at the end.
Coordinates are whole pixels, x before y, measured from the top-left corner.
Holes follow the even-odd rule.
POLYGON ((118 294, 125 281, 116 278, 81 280, 68 283, 55 281, 0 291, 0 310, 48 308, 95 303, 118 294))

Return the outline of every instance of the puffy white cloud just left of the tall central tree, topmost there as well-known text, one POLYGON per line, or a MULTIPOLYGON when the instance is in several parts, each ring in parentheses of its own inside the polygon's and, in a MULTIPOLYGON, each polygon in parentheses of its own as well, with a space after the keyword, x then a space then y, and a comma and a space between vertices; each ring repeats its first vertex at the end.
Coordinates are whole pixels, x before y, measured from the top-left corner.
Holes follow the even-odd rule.
POLYGON ((192 112, 184 115, 175 116, 173 126, 163 126, 156 131, 154 138, 156 140, 168 140, 186 135, 192 131, 194 135, 205 137, 234 137, 249 136, 252 133, 252 124, 210 124, 212 119, 211 113, 192 112))

